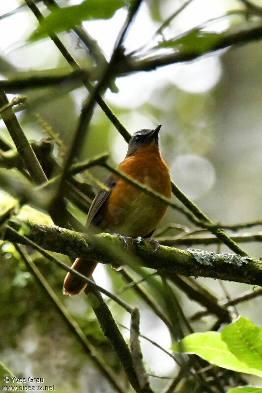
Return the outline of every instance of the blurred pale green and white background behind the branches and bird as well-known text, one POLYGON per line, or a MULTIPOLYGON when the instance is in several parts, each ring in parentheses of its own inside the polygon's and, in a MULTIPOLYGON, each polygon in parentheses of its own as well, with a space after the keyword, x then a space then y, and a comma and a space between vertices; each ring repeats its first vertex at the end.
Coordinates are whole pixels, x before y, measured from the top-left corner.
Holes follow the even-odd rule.
MULTIPOLYGON (((59 1, 61 6, 78 3, 80 1, 59 1)), ((181 4, 173 0, 144 1, 128 35, 127 49, 133 50, 148 41, 160 24, 181 4)), ((260 1, 256 4, 262 6, 260 1)), ((38 5, 47 14, 44 5, 41 2, 38 5)), ((1 1, 0 15, 20 6, 23 7, 19 12, 0 18, 1 79, 12 80, 18 73, 26 77, 41 75, 43 72, 46 74, 47 70, 57 70, 58 73, 61 70, 69 71, 70 67, 50 39, 33 43, 27 41, 37 22, 23 1, 1 1)), ((169 25, 167 38, 168 35, 179 35, 200 23, 237 9, 244 9, 241 1, 193 0, 169 25)), ((125 15, 126 10, 120 9, 109 20, 83 23, 84 28, 101 45, 107 59, 125 15)), ((217 24, 217 31, 236 24, 240 17, 219 20, 222 25, 217 24)), ((90 67, 92 61, 81 42, 73 34, 62 33, 61 37, 79 64, 90 67)), ((118 92, 108 90, 105 94, 106 102, 131 134, 138 129, 163 123, 161 151, 170 167, 172 180, 214 222, 236 224, 262 217, 261 63, 261 42, 251 42, 192 62, 116 78, 118 92)), ((87 97, 86 89, 81 84, 73 86, 63 83, 57 87, 17 90, 15 93, 22 94, 27 96, 26 106, 18 107, 16 115, 27 137, 34 141, 46 138, 53 140, 53 154, 61 160, 70 146, 82 102, 87 97), (56 143, 57 138, 59 143, 56 143)), ((13 96, 8 94, 10 100, 13 96)), ((3 121, 0 121, 0 135, 1 139, 12 144, 3 121)), ((86 159, 109 152, 112 163, 116 165, 123 159, 126 148, 126 142, 97 107, 78 158, 86 159)), ((100 180, 107 176, 106 171, 99 167, 90 172, 100 180)), ((81 181, 90 182, 90 179, 87 174, 83 174, 81 181)), ((91 185, 95 191, 97 185, 91 185)), ((7 196, 1 192, 0 198, 3 201, 7 196)), ((85 213, 74 204, 69 204, 69 209, 85 224, 85 213)), ((37 222, 44 223, 47 220, 46 216, 39 215, 35 210, 31 214, 37 222)), ((168 209, 158 229, 170 223, 191 228, 184 216, 168 209)), ((260 227, 244 231, 258 233, 260 227)), ((177 234, 177 230, 171 230, 168 234, 177 234)), ((262 255, 259 242, 245 243, 243 248, 254 258, 262 255)), ((226 246, 218 249, 216 245, 206 246, 205 249, 227 251, 226 246)), ((61 292, 64 272, 37 252, 31 249, 28 252, 93 345, 116 371, 121 372, 119 361, 101 333, 87 297, 82 294, 76 298, 64 298, 61 292)), ((66 257, 59 257, 69 264, 66 257)), ((48 385, 56 386, 57 392, 111 392, 112 388, 92 366, 10 243, 2 244, 0 266, 1 361, 16 376, 45 378, 48 385)), ((141 279, 147 274, 146 271, 129 273, 133 279, 141 279)), ((140 308, 142 333, 165 349, 170 347, 171 338, 167 327, 130 287, 126 287, 126 281, 118 272, 110 267, 99 266, 94 278, 99 285, 114 293, 120 293, 124 288, 121 297, 140 308)), ((167 302, 161 300, 163 293, 160 296, 157 292, 156 284, 160 285, 161 281, 155 277, 152 280, 151 283, 150 280, 146 281, 144 288, 165 308, 167 302)), ((198 278, 197 282, 219 299, 252 289, 234 282, 223 282, 222 285, 219 280, 208 278, 198 278)), ((172 288, 187 317, 201 309, 198 303, 190 301, 179 289, 172 288)), ((116 320, 128 326, 129 319, 123 310, 112 301, 108 303, 116 320)), ((244 302, 237 305, 237 312, 262 326, 262 314, 258 312, 260 303, 260 298, 244 302)), ((214 321, 214 317, 207 316, 191 323, 191 326, 196 331, 204 331, 214 321)), ((128 337, 129 333, 123 330, 123 334, 128 337)), ((147 369, 159 376, 175 376, 172 359, 143 339, 142 348, 147 369)), ((259 383, 255 377, 250 377, 249 381, 259 383)), ((157 391, 166 384, 165 380, 153 377, 151 382, 157 391)), ((189 392, 192 386, 185 385, 183 389, 183 392, 189 392)))

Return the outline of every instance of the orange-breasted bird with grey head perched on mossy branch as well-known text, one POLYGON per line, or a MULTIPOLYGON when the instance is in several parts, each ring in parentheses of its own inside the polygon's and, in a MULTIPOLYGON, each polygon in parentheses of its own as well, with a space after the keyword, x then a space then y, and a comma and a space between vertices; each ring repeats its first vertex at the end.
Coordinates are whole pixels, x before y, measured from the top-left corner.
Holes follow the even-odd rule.
MULTIPOLYGON (((159 150, 161 126, 135 132, 129 141, 126 156, 117 169, 170 198, 170 172, 159 150)), ((117 233, 124 237, 150 238, 165 214, 167 204, 115 174, 108 176, 105 185, 109 190, 97 191, 87 214, 87 226, 91 224, 99 232, 117 233)), ((89 278, 97 263, 87 258, 77 258, 71 268, 89 278)), ((68 272, 63 294, 80 294, 86 286, 87 283, 80 277, 68 272)))

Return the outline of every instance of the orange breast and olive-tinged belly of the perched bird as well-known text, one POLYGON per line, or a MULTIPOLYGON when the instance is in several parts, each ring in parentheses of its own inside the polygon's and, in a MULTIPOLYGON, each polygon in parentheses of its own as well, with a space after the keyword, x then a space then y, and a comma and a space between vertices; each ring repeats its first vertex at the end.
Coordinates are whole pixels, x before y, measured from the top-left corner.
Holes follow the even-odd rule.
MULTIPOLYGON (((118 167, 132 178, 144 182, 170 198, 169 169, 153 142, 126 158, 118 167)), ((124 236, 147 236, 165 214, 167 205, 119 179, 103 208, 108 230, 124 236)))

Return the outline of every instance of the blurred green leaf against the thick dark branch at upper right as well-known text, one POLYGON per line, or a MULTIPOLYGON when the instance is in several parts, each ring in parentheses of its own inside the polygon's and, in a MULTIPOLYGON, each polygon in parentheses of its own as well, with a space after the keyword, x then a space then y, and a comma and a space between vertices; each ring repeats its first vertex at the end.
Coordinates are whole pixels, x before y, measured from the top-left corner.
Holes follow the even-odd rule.
POLYGON ((201 54, 213 49, 221 39, 222 34, 214 31, 195 29, 179 38, 161 42, 158 48, 172 48, 182 53, 201 54))

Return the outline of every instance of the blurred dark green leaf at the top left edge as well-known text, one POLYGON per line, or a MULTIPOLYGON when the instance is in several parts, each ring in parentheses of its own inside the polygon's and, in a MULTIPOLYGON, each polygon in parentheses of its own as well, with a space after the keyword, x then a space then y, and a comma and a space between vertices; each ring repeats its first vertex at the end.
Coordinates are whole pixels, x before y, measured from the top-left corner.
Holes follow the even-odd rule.
POLYGON ((54 8, 41 25, 29 37, 29 41, 41 39, 48 32, 67 31, 82 21, 92 19, 109 19, 122 8, 124 0, 85 0, 79 5, 71 7, 54 8))

